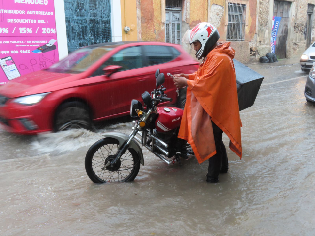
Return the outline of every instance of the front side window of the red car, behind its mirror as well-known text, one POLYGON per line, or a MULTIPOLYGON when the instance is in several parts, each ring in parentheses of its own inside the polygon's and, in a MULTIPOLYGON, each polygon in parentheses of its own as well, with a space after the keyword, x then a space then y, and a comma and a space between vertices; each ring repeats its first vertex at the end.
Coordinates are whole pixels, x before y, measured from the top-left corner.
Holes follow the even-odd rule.
POLYGON ((103 75, 103 69, 108 65, 120 65, 122 70, 131 70, 142 67, 142 53, 140 47, 130 47, 120 50, 102 64, 91 77, 103 75))

